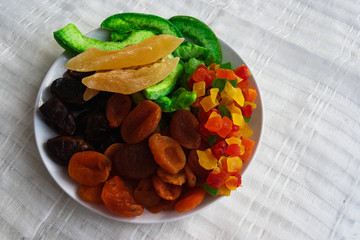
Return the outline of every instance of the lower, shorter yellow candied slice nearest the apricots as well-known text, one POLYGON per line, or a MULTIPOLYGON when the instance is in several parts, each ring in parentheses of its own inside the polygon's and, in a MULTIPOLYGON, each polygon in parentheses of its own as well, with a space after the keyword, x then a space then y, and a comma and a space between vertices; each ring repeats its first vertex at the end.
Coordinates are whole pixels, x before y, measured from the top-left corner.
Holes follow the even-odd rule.
POLYGON ((161 62, 139 69, 121 69, 96 72, 83 78, 88 88, 100 91, 133 94, 166 78, 179 62, 179 58, 165 58, 161 62))

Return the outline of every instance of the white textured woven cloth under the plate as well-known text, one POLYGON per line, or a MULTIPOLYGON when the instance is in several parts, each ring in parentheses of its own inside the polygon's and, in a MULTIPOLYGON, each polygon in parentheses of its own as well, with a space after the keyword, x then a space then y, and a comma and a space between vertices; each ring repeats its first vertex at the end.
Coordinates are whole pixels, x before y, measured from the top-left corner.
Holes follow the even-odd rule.
POLYGON ((360 3, 351 0, 0 1, 0 239, 360 239, 360 3), (100 217, 68 197, 36 149, 37 91, 62 53, 118 12, 206 22, 251 68, 265 129, 243 188, 165 224, 100 217))

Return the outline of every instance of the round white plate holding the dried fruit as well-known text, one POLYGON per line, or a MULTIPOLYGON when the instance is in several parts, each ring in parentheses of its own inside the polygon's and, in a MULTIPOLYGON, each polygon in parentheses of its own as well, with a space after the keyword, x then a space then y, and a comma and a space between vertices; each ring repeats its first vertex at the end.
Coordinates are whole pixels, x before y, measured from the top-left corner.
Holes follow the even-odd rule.
MULTIPOLYGON (((100 40, 107 40, 108 32, 102 29, 97 29, 89 33, 88 36, 100 40)), ((242 64, 245 64, 244 61, 240 58, 240 56, 235 51, 233 51, 226 43, 224 43, 221 40, 220 43, 223 49, 223 62, 230 61, 233 66, 240 66, 242 64)), ((67 169, 65 167, 54 163, 46 152, 45 149, 46 141, 52 137, 57 136, 58 134, 54 132, 48 125, 45 124, 39 112, 39 107, 44 102, 46 102, 47 99, 50 98, 49 86, 55 79, 61 77, 62 74, 66 71, 65 63, 69 60, 70 57, 71 57, 70 54, 64 52, 58 59, 56 59, 54 64, 51 66, 50 70, 46 74, 40 86, 38 96, 35 102, 35 110, 34 110, 35 138, 41 158, 46 168, 48 169, 50 175, 69 196, 71 196, 81 205, 85 206, 91 211, 94 211, 102 216, 117 221, 129 222, 129 223, 162 223, 162 222, 180 220, 184 217, 188 217, 195 213, 198 213, 200 210, 210 206, 211 204, 219 200, 219 198, 206 196, 204 201, 201 203, 201 205, 199 205, 193 210, 186 211, 183 213, 177 213, 176 211, 162 211, 157 214, 152 214, 147 210, 144 210, 144 213, 141 216, 135 218, 124 218, 117 214, 112 213, 102 204, 88 203, 83 201, 81 198, 79 198, 78 195, 76 194, 77 188, 79 186, 78 183, 69 177, 67 169)), ((262 129, 263 129, 263 104, 261 100, 260 89, 258 88, 253 77, 251 77, 250 85, 253 86, 258 92, 258 97, 256 100, 257 108, 254 110, 254 113, 251 117, 251 121, 249 122, 250 127, 254 131, 254 135, 250 139, 255 141, 255 146, 252 156, 246 163, 244 163, 243 168, 241 170, 241 174, 245 172, 249 164, 253 161, 253 159, 255 159, 257 149, 259 148, 259 143, 261 142, 262 129)), ((241 189, 238 189, 237 191, 241 191, 241 189)))

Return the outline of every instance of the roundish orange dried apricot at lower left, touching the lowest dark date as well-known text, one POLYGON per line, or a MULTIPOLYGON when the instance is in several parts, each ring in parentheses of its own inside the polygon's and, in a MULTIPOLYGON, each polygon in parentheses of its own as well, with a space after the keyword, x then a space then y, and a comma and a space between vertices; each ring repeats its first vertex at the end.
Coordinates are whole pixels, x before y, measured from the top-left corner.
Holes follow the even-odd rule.
POLYGON ((87 186, 105 182, 111 170, 111 161, 104 154, 95 151, 75 153, 69 161, 71 178, 87 186))

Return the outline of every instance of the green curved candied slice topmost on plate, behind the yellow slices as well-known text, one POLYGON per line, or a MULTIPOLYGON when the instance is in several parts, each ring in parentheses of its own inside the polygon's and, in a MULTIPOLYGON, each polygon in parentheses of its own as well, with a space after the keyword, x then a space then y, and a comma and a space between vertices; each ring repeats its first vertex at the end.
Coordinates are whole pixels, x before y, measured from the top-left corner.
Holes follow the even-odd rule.
POLYGON ((135 30, 148 30, 155 34, 168 34, 183 37, 180 31, 168 20, 151 14, 144 13, 118 13, 106 18, 101 23, 101 28, 120 33, 135 30))

